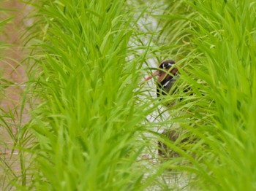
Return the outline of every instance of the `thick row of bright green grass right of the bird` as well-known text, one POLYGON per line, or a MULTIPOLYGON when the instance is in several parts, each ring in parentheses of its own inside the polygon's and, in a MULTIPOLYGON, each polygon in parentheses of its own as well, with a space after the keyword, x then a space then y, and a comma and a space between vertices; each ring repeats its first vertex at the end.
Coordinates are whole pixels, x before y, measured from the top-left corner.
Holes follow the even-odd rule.
MULTIPOLYGON (((174 95, 184 101, 171 111, 181 112, 172 121, 200 140, 189 148, 198 158, 192 161, 198 171, 191 170, 198 176, 195 187, 255 190, 255 3, 184 3, 194 16, 181 12, 192 26, 185 29, 192 51, 183 59, 180 87, 187 83, 194 95, 174 95)), ((167 23, 172 23, 168 17, 167 23)), ((173 30, 163 31, 172 42, 173 30)))

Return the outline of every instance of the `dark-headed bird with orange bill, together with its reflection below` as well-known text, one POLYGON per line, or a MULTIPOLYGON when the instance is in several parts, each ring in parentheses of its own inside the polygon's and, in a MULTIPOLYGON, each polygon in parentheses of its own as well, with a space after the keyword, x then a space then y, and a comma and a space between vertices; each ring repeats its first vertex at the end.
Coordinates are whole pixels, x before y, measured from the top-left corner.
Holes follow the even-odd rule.
MULTIPOLYGON (((162 63, 159 64, 157 71, 151 74, 151 76, 146 77, 146 79, 144 79, 144 82, 148 81, 153 77, 157 77, 157 97, 167 95, 169 93, 174 93, 176 88, 174 90, 172 89, 173 86, 176 85, 178 79, 178 67, 176 66, 176 62, 173 60, 162 61, 162 63)), ((173 104, 167 104, 167 106, 169 107, 172 105, 173 104)), ((169 139, 170 141, 176 141, 180 136, 180 132, 175 129, 163 130, 162 135, 167 137, 167 139, 169 139)), ((187 140, 181 140, 181 142, 184 141, 187 140)), ((171 151, 162 141, 158 141, 158 155, 165 158, 179 156, 177 152, 171 151)))

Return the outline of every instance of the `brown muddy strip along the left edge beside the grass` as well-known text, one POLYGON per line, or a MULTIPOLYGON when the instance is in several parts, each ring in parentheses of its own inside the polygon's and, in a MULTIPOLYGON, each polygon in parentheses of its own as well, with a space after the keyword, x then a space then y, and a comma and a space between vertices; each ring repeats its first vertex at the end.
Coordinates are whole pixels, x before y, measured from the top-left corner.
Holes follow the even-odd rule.
MULTIPOLYGON (((13 137, 17 139, 19 128, 22 128, 23 124, 29 120, 26 108, 20 117, 22 93, 26 87, 24 82, 27 80, 26 66, 22 64, 25 53, 22 50, 20 35, 23 34, 26 26, 31 25, 31 20, 24 19, 30 10, 31 7, 25 6, 18 0, 0 0, 0 20, 13 16, 13 19, 0 29, 0 43, 10 44, 6 50, 0 52, 0 117, 7 122, 11 129, 8 132, 6 125, 3 125, 0 118, 0 179, 4 178, 6 173, 4 167, 7 165, 10 165, 15 174, 19 174, 20 171, 18 150, 14 150, 12 153, 12 146, 15 144, 13 137), (10 11, 3 14, 1 8, 10 9, 10 11), (12 82, 12 85, 6 87, 7 82, 2 79, 12 82), (3 161, 5 164, 2 163, 3 161)), ((6 183, 0 181, 0 190, 3 188, 1 184, 6 183)))

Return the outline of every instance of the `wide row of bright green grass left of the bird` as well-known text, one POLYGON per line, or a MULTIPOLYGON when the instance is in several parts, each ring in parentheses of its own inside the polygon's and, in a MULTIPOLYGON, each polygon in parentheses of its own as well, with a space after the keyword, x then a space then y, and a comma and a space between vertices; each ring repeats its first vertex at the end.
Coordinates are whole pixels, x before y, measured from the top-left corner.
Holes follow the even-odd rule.
POLYGON ((39 15, 42 55, 31 75, 38 174, 30 187, 139 188, 144 170, 134 162, 145 144, 136 132, 151 111, 135 90, 140 56, 127 61, 133 15, 123 1, 45 1, 39 15))

